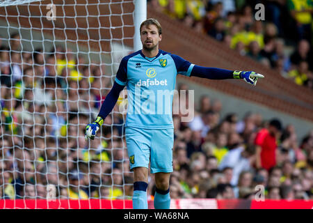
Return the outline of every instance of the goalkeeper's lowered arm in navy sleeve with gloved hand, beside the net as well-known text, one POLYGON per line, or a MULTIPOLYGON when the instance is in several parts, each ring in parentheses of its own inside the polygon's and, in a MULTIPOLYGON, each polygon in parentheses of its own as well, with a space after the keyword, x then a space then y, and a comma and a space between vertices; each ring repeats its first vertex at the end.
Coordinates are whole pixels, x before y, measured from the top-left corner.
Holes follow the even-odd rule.
POLYGON ((108 116, 108 114, 112 111, 113 107, 115 106, 116 102, 118 101, 118 97, 120 92, 124 89, 125 86, 122 86, 116 82, 114 82, 111 91, 106 95, 106 99, 102 103, 100 112, 97 116, 97 119, 86 126, 85 131, 85 139, 95 139, 95 134, 97 130, 99 130, 100 126, 104 122, 104 118, 108 116))

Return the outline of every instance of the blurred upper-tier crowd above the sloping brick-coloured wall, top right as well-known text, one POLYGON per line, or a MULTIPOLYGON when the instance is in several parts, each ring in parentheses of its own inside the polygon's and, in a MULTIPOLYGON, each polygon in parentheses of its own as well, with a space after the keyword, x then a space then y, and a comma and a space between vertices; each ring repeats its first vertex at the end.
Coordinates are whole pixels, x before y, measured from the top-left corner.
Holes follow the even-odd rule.
POLYGON ((150 5, 313 89, 313 1, 150 0, 150 5), (255 6, 262 3, 262 6, 255 6))

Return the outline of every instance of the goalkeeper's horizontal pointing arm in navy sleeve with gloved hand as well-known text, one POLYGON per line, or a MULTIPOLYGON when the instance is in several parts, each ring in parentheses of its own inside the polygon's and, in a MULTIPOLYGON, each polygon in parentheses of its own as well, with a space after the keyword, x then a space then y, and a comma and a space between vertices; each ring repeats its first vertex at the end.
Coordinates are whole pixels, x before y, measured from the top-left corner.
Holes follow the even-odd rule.
POLYGON ((255 85, 258 78, 263 75, 253 71, 225 70, 220 68, 206 68, 202 66, 193 66, 191 76, 202 77, 207 79, 244 79, 247 83, 255 85))

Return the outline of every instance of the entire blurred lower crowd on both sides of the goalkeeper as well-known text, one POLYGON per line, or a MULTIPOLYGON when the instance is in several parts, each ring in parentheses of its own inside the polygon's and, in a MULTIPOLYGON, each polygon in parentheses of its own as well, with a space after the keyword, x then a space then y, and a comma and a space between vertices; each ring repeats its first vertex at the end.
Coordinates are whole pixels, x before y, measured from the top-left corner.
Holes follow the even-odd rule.
MULTIPOLYGON (((55 187, 58 199, 131 199, 126 90, 95 140, 84 139, 112 87, 104 66, 61 46, 22 51, 13 33, 0 43, 0 70, 0 198, 45 199, 55 187)), ((275 118, 221 116, 222 103, 207 95, 196 108, 191 122, 173 116, 172 199, 254 199, 256 185, 267 199, 313 199, 313 131, 298 139, 275 118)), ((153 199, 154 175, 148 185, 153 199)))

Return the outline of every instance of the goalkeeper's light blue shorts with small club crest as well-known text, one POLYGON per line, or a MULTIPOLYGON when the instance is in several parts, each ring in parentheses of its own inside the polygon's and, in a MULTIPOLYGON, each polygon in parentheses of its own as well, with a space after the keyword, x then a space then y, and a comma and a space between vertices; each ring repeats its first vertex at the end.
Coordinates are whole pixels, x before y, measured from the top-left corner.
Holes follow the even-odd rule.
POLYGON ((172 172, 174 129, 125 128, 130 169, 147 167, 151 174, 172 172))

